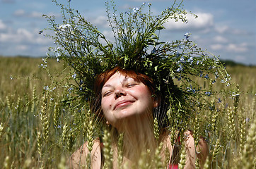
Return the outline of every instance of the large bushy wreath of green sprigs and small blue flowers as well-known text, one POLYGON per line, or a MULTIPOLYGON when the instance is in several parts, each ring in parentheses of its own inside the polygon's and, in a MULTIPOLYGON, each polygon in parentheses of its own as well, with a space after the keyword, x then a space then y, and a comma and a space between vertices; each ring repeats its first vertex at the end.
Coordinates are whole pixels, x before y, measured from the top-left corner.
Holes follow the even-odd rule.
POLYGON ((49 49, 52 53, 48 57, 62 60, 72 68, 76 95, 83 101, 91 100, 96 75, 116 66, 133 69, 153 79, 158 92, 170 105, 169 124, 180 128, 187 127, 200 108, 210 107, 205 97, 219 94, 211 85, 217 81, 230 85, 231 77, 219 58, 200 49, 190 40, 190 33, 185 33, 181 40, 161 41, 159 35, 168 20, 187 23, 186 15, 194 15, 187 13, 182 3, 174 1, 160 15, 153 15, 150 3, 117 13, 115 3, 107 2, 107 21, 114 37, 110 41, 78 11, 71 9, 70 2, 67 5, 53 2, 62 9, 63 20, 59 24, 54 15, 45 15, 51 26, 46 30, 54 32, 47 37, 57 45, 49 49), (196 77, 210 84, 209 89, 202 88, 196 77))

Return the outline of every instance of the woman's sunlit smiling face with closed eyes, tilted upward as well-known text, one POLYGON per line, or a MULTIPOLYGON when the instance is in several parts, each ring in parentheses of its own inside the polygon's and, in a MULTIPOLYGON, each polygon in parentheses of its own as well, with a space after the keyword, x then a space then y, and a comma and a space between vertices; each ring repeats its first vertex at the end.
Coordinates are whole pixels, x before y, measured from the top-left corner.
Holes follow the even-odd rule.
POLYGON ((119 127, 126 119, 152 113, 157 106, 149 88, 132 77, 115 73, 103 85, 101 107, 108 123, 119 127))

